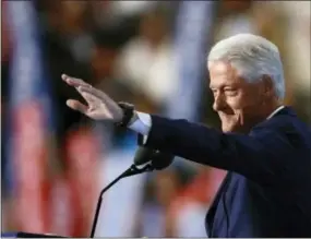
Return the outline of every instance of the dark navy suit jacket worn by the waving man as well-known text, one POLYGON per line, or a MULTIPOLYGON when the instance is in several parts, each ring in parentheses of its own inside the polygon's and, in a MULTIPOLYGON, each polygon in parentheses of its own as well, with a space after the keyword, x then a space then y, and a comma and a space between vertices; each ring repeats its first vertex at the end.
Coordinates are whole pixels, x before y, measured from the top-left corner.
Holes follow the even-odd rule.
POLYGON ((146 146, 229 171, 210 237, 311 237, 311 131, 290 108, 249 135, 152 116, 146 146))

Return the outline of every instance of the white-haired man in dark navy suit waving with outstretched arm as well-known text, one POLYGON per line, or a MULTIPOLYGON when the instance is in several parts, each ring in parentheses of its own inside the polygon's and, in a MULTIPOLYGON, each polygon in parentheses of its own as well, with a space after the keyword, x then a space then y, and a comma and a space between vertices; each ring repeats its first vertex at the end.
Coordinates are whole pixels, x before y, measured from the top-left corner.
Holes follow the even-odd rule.
POLYGON ((88 104, 70 99, 72 109, 129 127, 147 147, 229 171, 206 215, 210 237, 311 237, 311 131, 282 105, 277 47, 236 35, 212 48, 207 68, 223 132, 136 112, 82 80, 62 79, 88 104))

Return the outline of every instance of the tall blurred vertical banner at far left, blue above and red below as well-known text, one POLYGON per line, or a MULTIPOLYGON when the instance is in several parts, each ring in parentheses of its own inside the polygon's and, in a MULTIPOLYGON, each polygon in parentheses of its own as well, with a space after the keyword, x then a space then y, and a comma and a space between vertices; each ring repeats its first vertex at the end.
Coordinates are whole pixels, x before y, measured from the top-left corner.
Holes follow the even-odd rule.
POLYGON ((13 49, 8 158, 13 178, 15 225, 17 230, 48 232, 45 190, 52 107, 43 64, 38 16, 32 1, 5 3, 13 49))

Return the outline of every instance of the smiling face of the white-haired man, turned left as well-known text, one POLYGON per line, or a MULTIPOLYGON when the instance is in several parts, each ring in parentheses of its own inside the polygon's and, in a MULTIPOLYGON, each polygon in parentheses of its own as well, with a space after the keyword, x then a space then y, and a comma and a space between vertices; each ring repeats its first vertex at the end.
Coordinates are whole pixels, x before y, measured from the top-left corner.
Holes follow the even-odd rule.
POLYGON ((262 120, 263 83, 248 83, 229 63, 210 62, 208 70, 223 132, 248 132, 262 120))

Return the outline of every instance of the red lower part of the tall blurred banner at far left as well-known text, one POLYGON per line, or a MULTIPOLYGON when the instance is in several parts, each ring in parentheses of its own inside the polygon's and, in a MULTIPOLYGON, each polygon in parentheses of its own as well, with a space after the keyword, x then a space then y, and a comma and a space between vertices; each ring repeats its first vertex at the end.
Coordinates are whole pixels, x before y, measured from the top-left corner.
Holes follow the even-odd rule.
POLYGON ((45 181, 47 135, 44 111, 23 103, 13 115, 13 164, 16 176, 15 215, 19 230, 46 232, 45 181))

